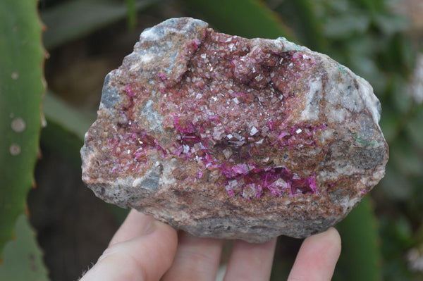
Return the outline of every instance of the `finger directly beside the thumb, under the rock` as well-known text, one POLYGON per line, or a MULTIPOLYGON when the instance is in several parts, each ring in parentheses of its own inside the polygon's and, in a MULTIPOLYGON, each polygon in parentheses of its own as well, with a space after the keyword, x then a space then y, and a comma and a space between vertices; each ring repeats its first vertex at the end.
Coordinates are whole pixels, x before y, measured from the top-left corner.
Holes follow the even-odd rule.
POLYGON ((180 232, 176 256, 162 281, 214 281, 219 268, 222 244, 220 239, 194 237, 180 232))

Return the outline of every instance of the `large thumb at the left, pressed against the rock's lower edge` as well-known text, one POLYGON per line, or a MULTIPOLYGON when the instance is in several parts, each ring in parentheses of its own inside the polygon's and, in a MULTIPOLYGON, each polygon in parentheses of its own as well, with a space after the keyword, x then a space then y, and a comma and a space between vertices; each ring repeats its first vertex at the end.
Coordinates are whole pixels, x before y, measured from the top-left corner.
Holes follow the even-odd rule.
POLYGON ((171 266, 176 244, 176 231, 172 227, 131 212, 111 246, 81 280, 157 281, 171 266))

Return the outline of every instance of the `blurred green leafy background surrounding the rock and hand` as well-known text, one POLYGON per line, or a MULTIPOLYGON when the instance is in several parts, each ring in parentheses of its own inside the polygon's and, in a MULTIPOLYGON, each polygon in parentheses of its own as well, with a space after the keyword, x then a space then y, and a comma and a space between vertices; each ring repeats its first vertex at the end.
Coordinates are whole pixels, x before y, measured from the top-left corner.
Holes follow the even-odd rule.
MULTIPOLYGON (((181 16, 287 37, 369 80, 390 161, 336 226, 333 280, 423 280, 420 0, 1 0, 0 280, 76 280, 102 254, 127 211, 83 185, 79 149, 106 73, 142 30, 181 16)), ((301 242, 278 239, 271 280, 286 280, 301 242)))

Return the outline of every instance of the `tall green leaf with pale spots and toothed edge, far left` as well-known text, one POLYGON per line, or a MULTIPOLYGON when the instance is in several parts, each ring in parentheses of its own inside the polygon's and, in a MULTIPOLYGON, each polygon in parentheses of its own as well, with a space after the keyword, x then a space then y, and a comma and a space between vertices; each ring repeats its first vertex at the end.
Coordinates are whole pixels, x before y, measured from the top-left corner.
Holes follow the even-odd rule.
POLYGON ((37 1, 0 1, 0 258, 33 184, 44 92, 41 36, 37 1))

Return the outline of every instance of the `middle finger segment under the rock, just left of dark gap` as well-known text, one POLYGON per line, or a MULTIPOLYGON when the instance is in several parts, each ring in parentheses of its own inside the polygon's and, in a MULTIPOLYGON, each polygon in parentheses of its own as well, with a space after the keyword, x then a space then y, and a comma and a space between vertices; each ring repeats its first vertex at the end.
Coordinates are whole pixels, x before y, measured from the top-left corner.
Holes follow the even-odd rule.
POLYGON ((269 280, 275 246, 276 238, 264 244, 236 241, 224 280, 269 280))

